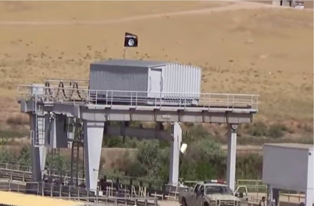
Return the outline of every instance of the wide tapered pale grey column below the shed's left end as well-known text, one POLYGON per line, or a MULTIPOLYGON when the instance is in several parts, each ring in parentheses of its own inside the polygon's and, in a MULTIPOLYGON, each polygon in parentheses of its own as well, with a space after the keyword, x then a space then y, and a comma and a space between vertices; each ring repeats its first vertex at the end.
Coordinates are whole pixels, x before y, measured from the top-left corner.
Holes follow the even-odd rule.
POLYGON ((104 122, 83 121, 86 188, 97 189, 104 122))

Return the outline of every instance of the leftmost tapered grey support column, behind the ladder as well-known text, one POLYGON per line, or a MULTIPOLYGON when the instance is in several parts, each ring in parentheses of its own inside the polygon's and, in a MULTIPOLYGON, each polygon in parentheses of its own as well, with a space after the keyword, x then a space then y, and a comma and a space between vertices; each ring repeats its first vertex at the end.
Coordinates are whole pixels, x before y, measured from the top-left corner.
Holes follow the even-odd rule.
MULTIPOLYGON (((43 118, 43 117, 41 117, 43 118)), ((48 116, 45 118, 49 118, 48 116)), ((36 115, 30 114, 30 131, 36 131, 36 115)), ((44 121, 47 122, 47 121, 44 121)), ((44 125, 45 126, 45 125, 44 125)), ((40 134, 45 135, 45 133, 40 134)), ((38 137, 39 141, 44 141, 42 136, 38 137)), ((45 147, 44 143, 39 142, 40 146, 34 147, 33 142, 31 143, 32 147, 32 168, 33 168, 33 181, 40 182, 43 178, 44 171, 45 171, 45 164, 46 164, 46 155, 47 155, 47 148, 45 147)))

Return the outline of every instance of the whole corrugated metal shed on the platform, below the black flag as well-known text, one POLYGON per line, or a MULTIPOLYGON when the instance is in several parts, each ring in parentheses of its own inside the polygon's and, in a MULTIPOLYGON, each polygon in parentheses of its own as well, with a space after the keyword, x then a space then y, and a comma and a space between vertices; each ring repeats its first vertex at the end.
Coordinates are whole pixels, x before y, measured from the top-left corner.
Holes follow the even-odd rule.
POLYGON ((90 64, 89 89, 143 91, 140 96, 147 98, 199 99, 201 72, 199 67, 180 63, 113 59, 90 64))

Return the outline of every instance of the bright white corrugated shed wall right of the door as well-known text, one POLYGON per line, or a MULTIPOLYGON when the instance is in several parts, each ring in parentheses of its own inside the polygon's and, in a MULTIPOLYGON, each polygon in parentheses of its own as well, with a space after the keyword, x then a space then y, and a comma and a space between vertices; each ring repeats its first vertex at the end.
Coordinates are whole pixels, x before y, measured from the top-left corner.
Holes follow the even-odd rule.
POLYGON ((163 92, 165 98, 198 98, 201 91, 202 69, 189 65, 170 63, 163 68, 163 92), (178 94, 190 93, 190 94, 178 94))

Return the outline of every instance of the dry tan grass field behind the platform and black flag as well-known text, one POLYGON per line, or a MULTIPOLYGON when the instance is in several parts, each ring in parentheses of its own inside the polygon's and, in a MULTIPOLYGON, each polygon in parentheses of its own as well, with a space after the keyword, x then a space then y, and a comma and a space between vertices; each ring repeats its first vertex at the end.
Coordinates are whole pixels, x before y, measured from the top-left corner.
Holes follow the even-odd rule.
POLYGON ((202 91, 260 94, 259 118, 313 121, 313 10, 248 1, 1 1, 0 117, 19 117, 18 83, 87 79, 126 58, 203 67, 202 91))

